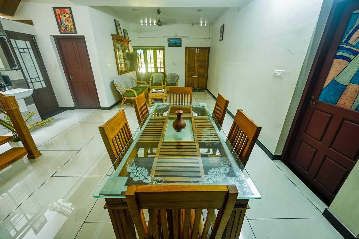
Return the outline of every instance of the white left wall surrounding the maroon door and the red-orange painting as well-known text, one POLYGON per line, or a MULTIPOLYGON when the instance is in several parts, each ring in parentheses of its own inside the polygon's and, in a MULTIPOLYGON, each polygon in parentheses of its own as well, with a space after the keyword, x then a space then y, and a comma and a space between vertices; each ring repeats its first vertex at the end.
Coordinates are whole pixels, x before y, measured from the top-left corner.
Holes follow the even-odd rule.
POLYGON ((121 27, 128 26, 125 20, 111 11, 93 9, 88 6, 75 6, 67 0, 59 1, 59 4, 22 1, 13 20, 33 21, 36 32, 35 38, 55 91, 57 102, 60 107, 72 107, 74 102, 53 40, 53 35, 64 34, 59 34, 52 7, 64 6, 64 4, 71 6, 77 29, 76 35, 84 35, 85 37, 101 107, 108 107, 114 104, 119 97, 109 83, 117 75, 116 64, 114 63, 115 52, 111 39, 111 34, 116 33, 113 19, 119 20, 121 27), (107 67, 107 63, 110 62, 112 62, 112 68, 105 69, 105 65, 107 67), (50 64, 54 64, 55 68, 50 68, 50 64))

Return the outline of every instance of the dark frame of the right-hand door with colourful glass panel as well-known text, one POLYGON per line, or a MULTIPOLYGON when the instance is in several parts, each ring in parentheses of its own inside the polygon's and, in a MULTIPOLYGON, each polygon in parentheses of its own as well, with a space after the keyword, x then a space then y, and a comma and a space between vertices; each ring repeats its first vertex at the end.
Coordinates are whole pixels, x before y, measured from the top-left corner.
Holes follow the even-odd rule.
MULTIPOLYGON (((308 102, 311 100, 317 80, 325 63, 326 56, 331 53, 328 51, 339 24, 342 11, 344 10, 346 4, 355 1, 357 0, 334 0, 333 2, 311 70, 309 71, 308 80, 304 86, 302 97, 300 98, 297 111, 295 112, 292 125, 290 126, 288 137, 284 144, 282 155, 280 157, 281 161, 288 161, 289 159, 289 154, 293 148, 295 138, 297 137, 300 125, 302 124, 302 120, 307 111, 308 102)), ((332 51, 336 52, 337 49, 332 49, 332 51)))

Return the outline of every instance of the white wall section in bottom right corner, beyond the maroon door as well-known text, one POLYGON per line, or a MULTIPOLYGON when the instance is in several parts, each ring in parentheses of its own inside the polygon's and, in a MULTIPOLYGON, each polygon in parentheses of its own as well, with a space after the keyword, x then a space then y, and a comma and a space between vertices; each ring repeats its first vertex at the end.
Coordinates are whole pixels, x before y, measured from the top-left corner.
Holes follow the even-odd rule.
POLYGON ((329 206, 329 211, 359 238, 359 161, 329 206))

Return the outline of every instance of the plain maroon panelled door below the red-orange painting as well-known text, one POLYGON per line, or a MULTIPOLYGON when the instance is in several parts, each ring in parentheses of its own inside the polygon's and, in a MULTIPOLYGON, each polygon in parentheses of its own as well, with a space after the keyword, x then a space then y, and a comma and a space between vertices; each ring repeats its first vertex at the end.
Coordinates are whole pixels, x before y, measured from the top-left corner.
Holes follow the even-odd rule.
POLYGON ((55 36, 55 40, 76 108, 99 108, 85 38, 55 36))

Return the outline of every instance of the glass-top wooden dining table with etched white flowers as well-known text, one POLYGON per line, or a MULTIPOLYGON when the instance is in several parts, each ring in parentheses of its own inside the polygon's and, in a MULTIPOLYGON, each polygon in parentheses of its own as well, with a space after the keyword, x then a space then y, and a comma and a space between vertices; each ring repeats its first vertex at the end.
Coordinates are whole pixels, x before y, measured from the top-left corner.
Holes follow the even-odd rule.
POLYGON ((155 103, 93 196, 105 199, 116 237, 135 238, 126 208, 127 186, 169 184, 237 186, 236 205, 224 233, 227 237, 222 238, 239 237, 248 200, 261 198, 205 103, 155 103), (186 122, 182 132, 172 127, 178 109, 186 122))

